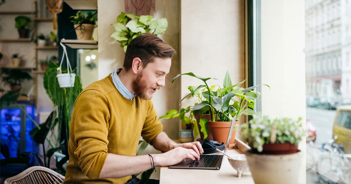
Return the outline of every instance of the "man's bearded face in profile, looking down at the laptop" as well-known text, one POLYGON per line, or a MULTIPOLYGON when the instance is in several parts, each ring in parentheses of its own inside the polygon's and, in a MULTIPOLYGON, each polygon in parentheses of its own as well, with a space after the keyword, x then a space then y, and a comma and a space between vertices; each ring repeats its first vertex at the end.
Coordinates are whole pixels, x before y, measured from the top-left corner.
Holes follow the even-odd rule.
POLYGON ((150 100, 156 89, 165 86, 165 77, 170 72, 171 58, 155 57, 154 62, 148 63, 133 81, 135 95, 144 100, 150 100))

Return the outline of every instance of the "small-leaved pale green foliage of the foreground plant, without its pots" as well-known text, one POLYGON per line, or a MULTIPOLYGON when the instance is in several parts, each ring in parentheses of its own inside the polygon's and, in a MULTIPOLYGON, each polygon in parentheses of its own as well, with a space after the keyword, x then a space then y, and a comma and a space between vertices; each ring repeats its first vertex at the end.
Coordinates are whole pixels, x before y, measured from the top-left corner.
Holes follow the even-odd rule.
POLYGON ((268 116, 261 116, 254 113, 253 118, 243 123, 242 135, 251 142, 252 147, 258 152, 263 151, 263 144, 269 143, 291 143, 298 145, 305 136, 302 127, 302 118, 297 121, 291 118, 269 119, 268 116))

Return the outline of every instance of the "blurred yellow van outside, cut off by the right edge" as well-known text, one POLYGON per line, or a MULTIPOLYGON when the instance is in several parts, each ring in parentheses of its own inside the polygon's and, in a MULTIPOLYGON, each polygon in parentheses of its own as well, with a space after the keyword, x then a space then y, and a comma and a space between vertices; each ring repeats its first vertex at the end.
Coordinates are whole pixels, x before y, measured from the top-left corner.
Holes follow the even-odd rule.
POLYGON ((336 144, 344 146, 345 153, 351 153, 351 105, 339 106, 336 110, 333 137, 336 144))

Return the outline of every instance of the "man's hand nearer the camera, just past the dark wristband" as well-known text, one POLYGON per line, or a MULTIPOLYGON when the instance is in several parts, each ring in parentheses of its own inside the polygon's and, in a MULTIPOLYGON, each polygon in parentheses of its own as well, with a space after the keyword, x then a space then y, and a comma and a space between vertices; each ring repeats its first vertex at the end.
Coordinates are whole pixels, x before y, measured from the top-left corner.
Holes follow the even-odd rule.
POLYGON ((173 150, 167 151, 166 153, 154 154, 152 155, 152 157, 154 160, 155 167, 166 167, 170 165, 175 165, 186 158, 189 158, 191 160, 200 159, 200 155, 194 150, 179 146, 174 148, 173 150))

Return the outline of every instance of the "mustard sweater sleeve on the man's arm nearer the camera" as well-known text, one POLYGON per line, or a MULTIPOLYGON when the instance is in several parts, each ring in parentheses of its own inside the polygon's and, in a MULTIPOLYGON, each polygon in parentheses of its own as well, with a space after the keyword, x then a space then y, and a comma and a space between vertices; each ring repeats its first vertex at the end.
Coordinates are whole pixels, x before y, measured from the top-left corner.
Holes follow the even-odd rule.
POLYGON ((106 97, 97 90, 84 91, 75 103, 72 117, 78 166, 88 178, 99 178, 108 145, 110 113, 106 97))

